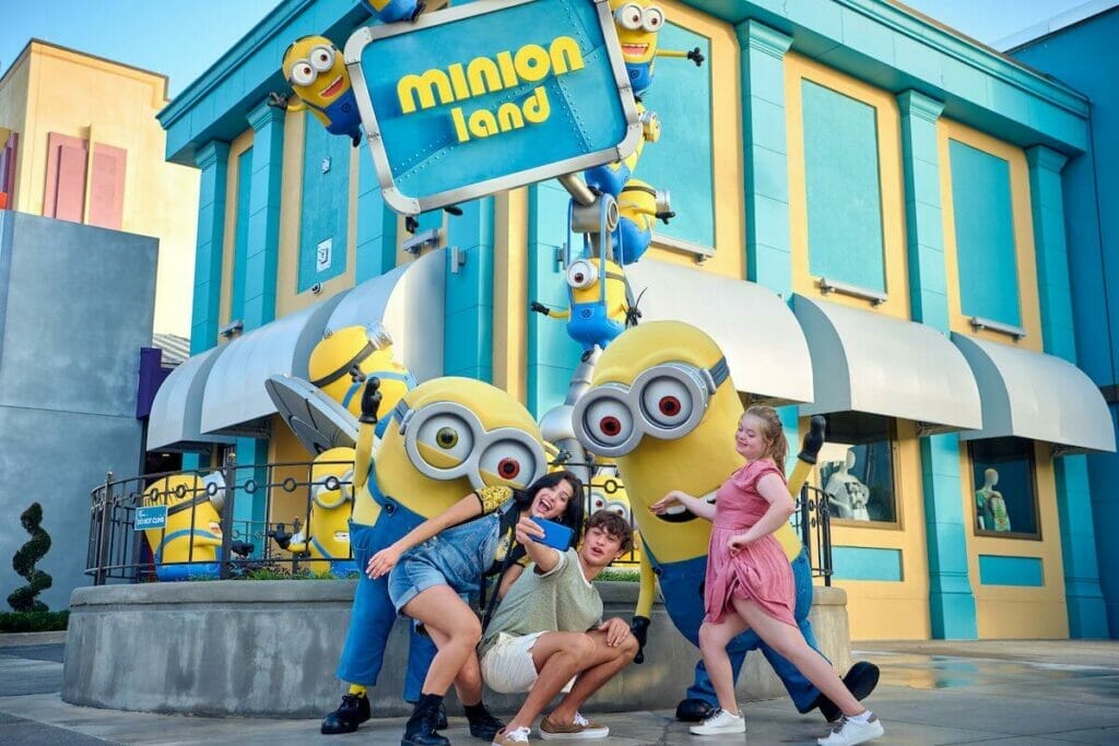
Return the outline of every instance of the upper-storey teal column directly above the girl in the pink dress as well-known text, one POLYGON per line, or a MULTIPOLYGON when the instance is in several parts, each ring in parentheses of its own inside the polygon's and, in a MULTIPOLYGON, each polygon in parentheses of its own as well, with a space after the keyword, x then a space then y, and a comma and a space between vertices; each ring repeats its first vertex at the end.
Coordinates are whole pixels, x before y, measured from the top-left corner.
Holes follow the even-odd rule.
POLYGON ((784 54, 792 38, 751 19, 735 27, 742 47, 743 155, 746 164, 746 278, 789 298, 789 148, 784 54))

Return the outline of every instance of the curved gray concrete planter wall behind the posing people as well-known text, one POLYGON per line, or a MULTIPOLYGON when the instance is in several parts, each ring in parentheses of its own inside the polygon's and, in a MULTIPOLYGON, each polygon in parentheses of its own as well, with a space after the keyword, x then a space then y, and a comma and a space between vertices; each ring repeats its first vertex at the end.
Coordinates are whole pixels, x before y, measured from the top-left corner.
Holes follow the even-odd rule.
MULTIPOLYGON (((335 665, 346 636, 354 580, 220 580, 78 588, 70 598, 65 701, 149 712, 316 717, 344 691, 335 665)), ((637 584, 600 583, 606 616, 629 618, 637 584)), ((812 626, 840 671, 850 663, 847 596, 816 588, 812 626)), ((402 716, 407 636, 389 638, 374 712, 402 716)), ((675 707, 692 680, 698 649, 653 607, 646 662, 631 665, 587 710, 675 707)), ((746 658, 740 699, 783 695, 760 654, 746 658)), ((519 697, 490 692, 487 702, 514 711, 519 697)), ((452 714, 457 712, 453 708, 452 714)))

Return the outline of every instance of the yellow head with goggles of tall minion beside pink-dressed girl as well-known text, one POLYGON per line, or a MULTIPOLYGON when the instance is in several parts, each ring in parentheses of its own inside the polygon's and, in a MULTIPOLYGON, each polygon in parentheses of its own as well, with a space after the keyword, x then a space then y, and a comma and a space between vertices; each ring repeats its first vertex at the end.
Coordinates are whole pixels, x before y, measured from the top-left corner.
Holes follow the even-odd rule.
POLYGON ((680 321, 626 330, 599 358, 573 424, 592 453, 613 457, 645 542, 660 561, 706 551, 705 521, 679 510, 653 516, 649 506, 679 489, 714 499, 742 465, 734 432, 742 403, 722 350, 680 321))

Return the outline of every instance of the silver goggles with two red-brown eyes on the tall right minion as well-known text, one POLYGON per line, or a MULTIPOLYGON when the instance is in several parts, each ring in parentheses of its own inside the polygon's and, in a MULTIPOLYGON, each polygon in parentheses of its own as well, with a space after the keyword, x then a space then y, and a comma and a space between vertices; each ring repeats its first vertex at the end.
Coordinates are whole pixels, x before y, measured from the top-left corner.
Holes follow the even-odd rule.
POLYGON ((703 419, 711 397, 730 377, 726 358, 711 368, 666 362, 641 372, 631 386, 601 384, 575 404, 575 436, 600 456, 623 456, 650 435, 684 437, 703 419))

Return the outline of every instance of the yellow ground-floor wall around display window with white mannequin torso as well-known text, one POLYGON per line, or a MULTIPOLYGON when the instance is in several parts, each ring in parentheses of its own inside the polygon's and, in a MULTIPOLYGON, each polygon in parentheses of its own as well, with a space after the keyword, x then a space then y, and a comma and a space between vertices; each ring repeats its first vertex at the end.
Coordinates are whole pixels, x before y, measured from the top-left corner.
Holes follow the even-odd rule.
MULTIPOLYGON (((896 526, 831 521, 833 547, 871 547, 901 553, 900 582, 833 579, 831 585, 847 592, 852 640, 928 640, 932 635, 920 443, 912 422, 897 421, 896 427, 896 526)), ((807 431, 808 419, 805 418, 801 432, 807 431)))

